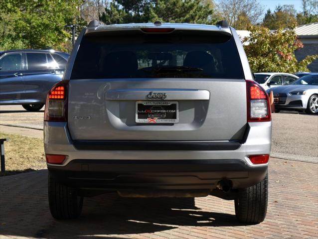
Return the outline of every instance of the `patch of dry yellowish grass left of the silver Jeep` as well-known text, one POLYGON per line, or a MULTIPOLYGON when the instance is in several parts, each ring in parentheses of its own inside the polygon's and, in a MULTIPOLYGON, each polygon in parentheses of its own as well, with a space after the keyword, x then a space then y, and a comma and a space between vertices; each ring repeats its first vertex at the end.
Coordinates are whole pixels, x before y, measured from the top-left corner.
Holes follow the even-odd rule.
POLYGON ((43 139, 0 132, 4 142, 5 173, 0 176, 46 168, 43 139))

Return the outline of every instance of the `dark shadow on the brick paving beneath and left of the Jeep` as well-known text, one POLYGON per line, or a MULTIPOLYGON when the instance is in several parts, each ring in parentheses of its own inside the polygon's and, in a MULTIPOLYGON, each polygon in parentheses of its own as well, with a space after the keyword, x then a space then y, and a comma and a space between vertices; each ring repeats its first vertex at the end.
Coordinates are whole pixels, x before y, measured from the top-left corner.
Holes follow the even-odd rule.
MULTIPOLYGON (((0 184, 4 184, 2 193, 7 191, 9 194, 5 194, 5 198, 12 196, 11 200, 0 199, 4 209, 4 212, 0 210, 0 232, 3 235, 51 239, 108 238, 116 235, 120 238, 183 226, 241 225, 233 214, 199 208, 194 198, 121 198, 116 193, 85 198, 79 219, 56 221, 49 214, 46 180, 46 170, 0 178, 0 184), (10 180, 12 183, 24 180, 23 186, 8 189, 12 184, 8 182, 10 180)), ((215 202, 211 205, 222 207, 215 202)))

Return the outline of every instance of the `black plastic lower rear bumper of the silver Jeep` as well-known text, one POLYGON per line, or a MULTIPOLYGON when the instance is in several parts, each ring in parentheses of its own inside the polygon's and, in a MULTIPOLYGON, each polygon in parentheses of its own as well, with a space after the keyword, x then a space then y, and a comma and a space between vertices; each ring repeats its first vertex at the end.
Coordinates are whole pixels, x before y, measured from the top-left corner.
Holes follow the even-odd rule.
POLYGON ((213 190, 221 179, 233 188, 252 186, 265 178, 267 165, 251 167, 240 159, 100 160, 76 159, 65 166, 48 165, 59 183, 80 189, 213 190))

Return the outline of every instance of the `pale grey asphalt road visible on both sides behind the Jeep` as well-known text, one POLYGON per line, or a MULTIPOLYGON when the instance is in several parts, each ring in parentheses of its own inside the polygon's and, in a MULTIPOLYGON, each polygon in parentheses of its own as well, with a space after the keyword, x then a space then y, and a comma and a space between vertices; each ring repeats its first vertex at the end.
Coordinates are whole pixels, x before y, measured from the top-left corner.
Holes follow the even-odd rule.
MULTIPOLYGON (((4 127, 3 124, 43 129, 43 110, 27 112, 21 106, 0 106, 0 130, 19 131, 15 128, 13 132, 12 127, 4 127)), ((272 119, 273 157, 318 162, 317 115, 281 112, 274 113, 272 119)), ((42 136, 42 133, 36 133, 42 136)))

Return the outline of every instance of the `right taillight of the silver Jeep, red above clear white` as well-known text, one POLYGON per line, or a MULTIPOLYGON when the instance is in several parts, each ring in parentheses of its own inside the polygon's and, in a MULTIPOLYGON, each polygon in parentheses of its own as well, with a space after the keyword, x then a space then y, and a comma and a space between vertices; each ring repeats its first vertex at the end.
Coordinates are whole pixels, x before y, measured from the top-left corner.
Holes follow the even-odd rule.
POLYGON ((266 91, 255 81, 246 81, 247 121, 271 121, 271 107, 266 91))

